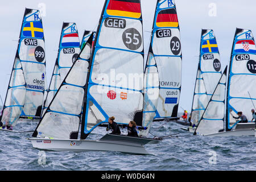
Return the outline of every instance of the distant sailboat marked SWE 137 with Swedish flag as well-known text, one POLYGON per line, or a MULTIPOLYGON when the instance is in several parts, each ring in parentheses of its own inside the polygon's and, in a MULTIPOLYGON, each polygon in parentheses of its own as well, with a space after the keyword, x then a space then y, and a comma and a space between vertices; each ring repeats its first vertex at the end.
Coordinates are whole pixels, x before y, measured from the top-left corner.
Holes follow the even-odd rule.
MULTIPOLYGON (((221 77, 220 53, 213 30, 202 29, 200 56, 189 122, 197 126, 221 77)), ((196 127, 189 127, 191 132, 196 127)))

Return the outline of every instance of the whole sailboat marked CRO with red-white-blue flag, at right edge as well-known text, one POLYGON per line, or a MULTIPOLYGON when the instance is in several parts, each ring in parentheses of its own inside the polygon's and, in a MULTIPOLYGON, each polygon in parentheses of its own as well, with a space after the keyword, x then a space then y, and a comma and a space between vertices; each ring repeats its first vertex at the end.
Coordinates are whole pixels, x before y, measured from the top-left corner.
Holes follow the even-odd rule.
MULTIPOLYGON (((213 110, 215 110, 216 113, 219 114, 219 119, 226 113, 225 125, 224 117, 221 119, 223 126, 220 128, 220 120, 205 122, 205 117, 203 115, 197 126, 198 129, 195 130, 194 134, 207 135, 210 137, 254 136, 255 123, 250 122, 249 119, 248 123, 239 123, 240 119, 236 121, 235 118, 237 117, 238 111, 242 111, 247 118, 251 118, 250 111, 251 108, 254 107, 254 102, 256 100, 256 92, 253 86, 256 80, 256 72, 251 68, 255 63, 255 55, 256 48, 251 31, 237 28, 230 57, 226 109, 223 107, 224 100, 222 100, 225 90, 216 89, 217 93, 214 93, 213 97, 217 97, 218 95, 222 96, 220 101, 223 102, 223 104, 221 104, 222 106, 214 107, 213 104, 209 103, 207 110, 205 110, 205 115, 208 115, 208 117, 213 117, 213 110), (219 124, 217 125, 217 123, 219 124), (216 130, 216 128, 220 130, 216 130)), ((222 84, 223 82, 224 81, 222 81, 222 84)))

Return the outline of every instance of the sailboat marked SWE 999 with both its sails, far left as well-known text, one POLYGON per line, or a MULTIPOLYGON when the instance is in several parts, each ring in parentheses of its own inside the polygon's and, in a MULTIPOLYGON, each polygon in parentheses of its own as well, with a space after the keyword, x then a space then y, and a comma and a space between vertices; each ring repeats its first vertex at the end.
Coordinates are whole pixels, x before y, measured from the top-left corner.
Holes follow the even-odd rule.
POLYGON ((40 118, 46 85, 44 50, 40 12, 26 9, 1 115, 3 126, 14 127, 19 118, 40 118))

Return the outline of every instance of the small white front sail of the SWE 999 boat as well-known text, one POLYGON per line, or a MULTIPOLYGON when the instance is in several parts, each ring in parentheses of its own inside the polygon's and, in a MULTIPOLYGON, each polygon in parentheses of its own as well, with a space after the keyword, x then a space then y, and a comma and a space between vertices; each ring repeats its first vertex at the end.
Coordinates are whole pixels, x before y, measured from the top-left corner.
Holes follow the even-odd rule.
POLYGON ((3 126, 15 126, 22 112, 26 96, 26 82, 19 55, 15 57, 13 71, 3 105, 1 122, 3 126))

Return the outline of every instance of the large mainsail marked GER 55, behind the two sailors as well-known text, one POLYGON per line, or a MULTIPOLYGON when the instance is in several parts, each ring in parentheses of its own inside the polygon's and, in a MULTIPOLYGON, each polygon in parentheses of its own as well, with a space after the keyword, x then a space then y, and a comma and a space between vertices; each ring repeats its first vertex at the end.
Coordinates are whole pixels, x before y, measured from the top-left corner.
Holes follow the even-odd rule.
POLYGON ((88 77, 81 139, 114 116, 142 126, 143 30, 139 0, 107 0, 88 77))

